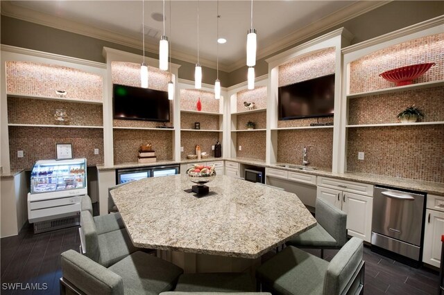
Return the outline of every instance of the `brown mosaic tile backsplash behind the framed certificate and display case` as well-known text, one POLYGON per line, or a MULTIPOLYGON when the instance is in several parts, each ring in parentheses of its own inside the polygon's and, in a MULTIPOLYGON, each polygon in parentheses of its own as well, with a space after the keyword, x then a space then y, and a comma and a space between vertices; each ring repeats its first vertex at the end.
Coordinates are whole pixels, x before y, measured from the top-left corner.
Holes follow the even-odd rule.
POLYGON ((103 130, 58 127, 9 128, 11 170, 33 168, 37 160, 55 159, 56 143, 72 143, 75 158, 86 158, 88 166, 103 164, 103 130), (99 154, 94 154, 94 149, 99 154), (24 157, 17 158, 17 150, 24 157))

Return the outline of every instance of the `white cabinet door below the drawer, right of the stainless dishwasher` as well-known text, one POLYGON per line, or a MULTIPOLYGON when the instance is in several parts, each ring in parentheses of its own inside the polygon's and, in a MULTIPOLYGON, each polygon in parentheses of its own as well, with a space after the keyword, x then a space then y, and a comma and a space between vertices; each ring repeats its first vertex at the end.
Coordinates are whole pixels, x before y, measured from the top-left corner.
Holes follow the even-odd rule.
POLYGON ((441 262, 441 235, 444 235, 444 212, 425 211, 424 251, 422 262, 439 267, 441 262))

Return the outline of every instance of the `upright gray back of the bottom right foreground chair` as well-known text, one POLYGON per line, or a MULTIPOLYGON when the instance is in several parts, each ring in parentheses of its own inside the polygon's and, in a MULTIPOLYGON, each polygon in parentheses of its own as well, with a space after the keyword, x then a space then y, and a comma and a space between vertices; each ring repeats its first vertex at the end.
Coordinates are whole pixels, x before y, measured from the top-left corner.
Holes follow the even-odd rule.
POLYGON ((359 294, 364 286, 363 241, 351 238, 336 253, 327 268, 323 294, 359 294))

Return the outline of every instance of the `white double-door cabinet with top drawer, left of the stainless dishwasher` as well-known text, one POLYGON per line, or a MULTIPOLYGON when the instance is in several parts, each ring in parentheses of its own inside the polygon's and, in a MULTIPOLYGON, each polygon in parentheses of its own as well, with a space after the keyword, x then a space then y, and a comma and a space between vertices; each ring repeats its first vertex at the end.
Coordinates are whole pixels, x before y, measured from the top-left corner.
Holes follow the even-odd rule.
POLYGON ((352 181, 318 177, 316 197, 347 213, 348 234, 370 242, 373 214, 373 186, 352 181), (319 186, 323 184, 323 186, 319 186), (362 194, 350 193, 359 191, 362 194), (371 193, 371 195, 370 195, 371 193))

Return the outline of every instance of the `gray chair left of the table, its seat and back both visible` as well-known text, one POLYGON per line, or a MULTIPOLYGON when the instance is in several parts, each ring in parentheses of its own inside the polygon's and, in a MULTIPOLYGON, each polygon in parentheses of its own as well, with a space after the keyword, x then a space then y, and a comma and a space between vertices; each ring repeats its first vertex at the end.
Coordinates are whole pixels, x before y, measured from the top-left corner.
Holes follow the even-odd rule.
MULTIPOLYGON (((80 213, 80 242, 82 252, 95 262, 109 267, 139 249, 133 246, 126 229, 99 234, 89 211, 80 213)), ((101 231, 105 231, 105 226, 101 231)))

